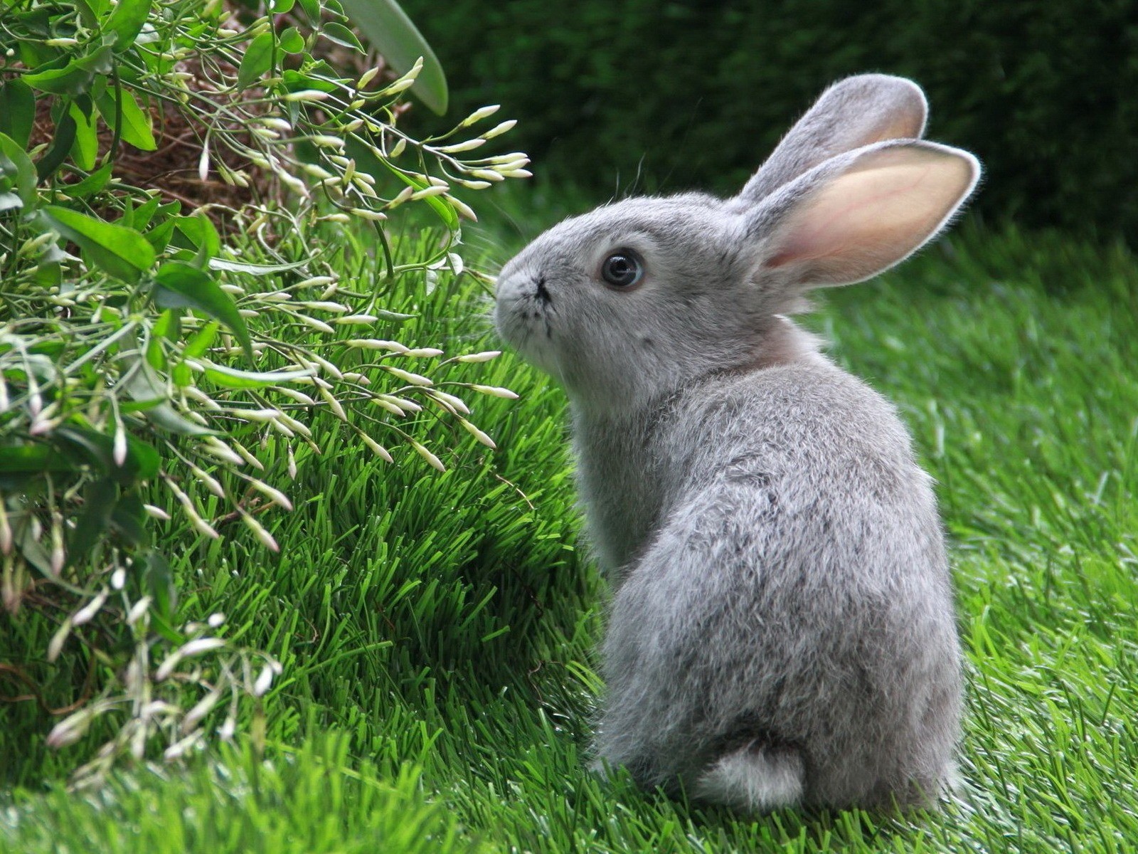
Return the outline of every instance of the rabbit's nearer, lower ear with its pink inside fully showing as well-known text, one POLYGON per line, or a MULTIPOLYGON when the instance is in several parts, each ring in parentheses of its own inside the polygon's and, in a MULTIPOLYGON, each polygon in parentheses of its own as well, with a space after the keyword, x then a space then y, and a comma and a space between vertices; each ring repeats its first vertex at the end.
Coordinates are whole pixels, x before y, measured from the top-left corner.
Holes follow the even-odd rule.
POLYGON ((849 285, 902 261, 939 232, 972 192, 967 151, 893 140, 831 158, 747 217, 766 270, 789 285, 849 285))

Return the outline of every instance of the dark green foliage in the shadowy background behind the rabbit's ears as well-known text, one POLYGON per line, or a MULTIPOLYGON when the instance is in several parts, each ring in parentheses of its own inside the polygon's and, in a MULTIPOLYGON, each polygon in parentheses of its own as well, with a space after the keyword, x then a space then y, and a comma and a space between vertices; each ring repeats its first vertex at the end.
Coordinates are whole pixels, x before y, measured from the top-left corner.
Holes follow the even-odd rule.
POLYGON ((404 6, 455 112, 501 101, 539 173, 597 199, 729 192, 827 83, 880 71, 920 82, 930 137, 983 161, 987 219, 1138 235, 1133 0, 404 6))

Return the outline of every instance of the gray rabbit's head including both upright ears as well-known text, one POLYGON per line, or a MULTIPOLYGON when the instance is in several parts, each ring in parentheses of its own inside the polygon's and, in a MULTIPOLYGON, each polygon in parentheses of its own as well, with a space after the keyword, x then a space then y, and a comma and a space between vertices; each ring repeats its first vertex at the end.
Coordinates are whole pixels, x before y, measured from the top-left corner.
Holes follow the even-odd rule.
POLYGON ((907 80, 850 77, 737 196, 630 198, 561 222, 503 268, 498 332, 602 409, 792 358, 780 315, 904 260, 975 187, 972 155, 918 139, 925 114, 907 80))

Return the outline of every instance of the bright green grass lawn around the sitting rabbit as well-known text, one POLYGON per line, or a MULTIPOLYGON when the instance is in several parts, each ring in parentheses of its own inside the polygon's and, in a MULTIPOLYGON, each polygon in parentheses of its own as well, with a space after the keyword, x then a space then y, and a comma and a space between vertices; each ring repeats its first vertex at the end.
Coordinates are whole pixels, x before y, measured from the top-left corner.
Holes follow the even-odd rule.
MULTIPOLYGON (((377 335, 476 348, 478 293, 405 295, 419 319, 377 335)), ((51 754, 30 704, 0 707, 0 851, 1128 851, 1138 262, 965 228, 808 323, 897 402, 939 481, 970 660, 956 803, 748 820, 587 774, 604 586, 575 549, 563 397, 503 356, 462 377, 522 395, 469 400, 496 453, 456 438, 439 475, 329 432, 271 520, 279 557, 236 527, 163 532, 183 613, 224 610, 284 664, 263 757, 242 741, 71 794, 90 745, 51 754)))

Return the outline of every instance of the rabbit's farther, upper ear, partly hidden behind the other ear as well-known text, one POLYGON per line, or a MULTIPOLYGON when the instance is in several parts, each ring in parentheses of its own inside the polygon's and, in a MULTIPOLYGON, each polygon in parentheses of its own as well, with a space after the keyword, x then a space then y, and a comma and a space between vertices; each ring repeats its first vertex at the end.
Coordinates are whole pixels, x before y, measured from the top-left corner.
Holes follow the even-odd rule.
POLYGON ((834 83, 783 137, 737 200, 753 205, 819 163, 888 139, 924 133, 929 105, 905 77, 859 74, 834 83))

